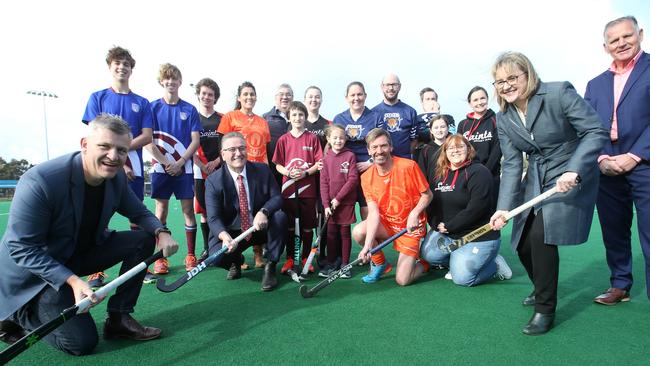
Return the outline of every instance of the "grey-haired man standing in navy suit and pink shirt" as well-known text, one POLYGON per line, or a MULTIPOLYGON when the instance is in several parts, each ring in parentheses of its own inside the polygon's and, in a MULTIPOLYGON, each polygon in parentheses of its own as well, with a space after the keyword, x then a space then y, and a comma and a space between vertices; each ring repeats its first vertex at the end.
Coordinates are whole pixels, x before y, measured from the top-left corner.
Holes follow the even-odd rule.
POLYGON ((650 297, 650 55, 641 50, 643 29, 633 16, 607 23, 604 36, 613 62, 587 84, 585 99, 610 131, 598 158, 597 207, 611 287, 594 301, 615 305, 630 300, 633 205, 650 297))

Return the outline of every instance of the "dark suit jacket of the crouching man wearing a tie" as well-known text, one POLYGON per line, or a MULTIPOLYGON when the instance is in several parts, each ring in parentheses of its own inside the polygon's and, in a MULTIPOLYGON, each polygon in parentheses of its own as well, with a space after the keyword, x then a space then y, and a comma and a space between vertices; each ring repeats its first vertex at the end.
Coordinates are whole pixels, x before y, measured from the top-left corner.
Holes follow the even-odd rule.
MULTIPOLYGON (((270 216, 282 208, 280 188, 268 165, 247 162, 246 179, 253 217, 262 208, 266 208, 270 216)), ((239 224, 239 195, 227 166, 216 170, 205 180, 205 209, 210 226, 209 243, 212 246, 220 241, 219 233, 239 224)))

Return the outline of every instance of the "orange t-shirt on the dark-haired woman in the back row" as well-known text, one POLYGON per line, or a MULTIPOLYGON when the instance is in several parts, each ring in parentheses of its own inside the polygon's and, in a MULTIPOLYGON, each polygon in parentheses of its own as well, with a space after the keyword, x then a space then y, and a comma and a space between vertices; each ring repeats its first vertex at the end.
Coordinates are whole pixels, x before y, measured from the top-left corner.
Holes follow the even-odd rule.
POLYGON ((228 132, 241 133, 246 139, 248 160, 269 163, 266 144, 271 142, 271 133, 269 132, 269 124, 264 118, 256 114, 248 116, 241 110, 234 110, 226 113, 221 118, 217 132, 223 135, 228 132))

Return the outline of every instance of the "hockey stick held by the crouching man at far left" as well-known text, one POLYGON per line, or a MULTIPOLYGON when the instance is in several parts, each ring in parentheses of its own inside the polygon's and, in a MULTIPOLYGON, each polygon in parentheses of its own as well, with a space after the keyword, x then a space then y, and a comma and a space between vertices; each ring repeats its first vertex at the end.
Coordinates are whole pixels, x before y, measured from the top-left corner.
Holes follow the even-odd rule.
MULTIPOLYGON (((124 272, 122 275, 120 275, 113 281, 107 283, 105 286, 95 291, 95 295, 99 298, 105 297, 111 291, 115 290, 118 286, 130 280, 136 274, 142 272, 145 268, 151 265, 151 263, 161 258, 163 258, 162 250, 155 253, 151 257, 145 259, 144 261, 140 262, 135 267, 124 272)), ((90 301, 90 297, 85 297, 78 303, 63 310, 61 314, 59 314, 59 316, 57 316, 56 318, 48 321, 47 323, 42 324, 40 327, 29 332, 29 334, 25 335, 24 337, 16 341, 16 343, 12 344, 11 346, 5 348, 4 350, 2 350, 2 352, 0 352, 0 365, 4 365, 5 363, 11 361, 12 359, 14 359, 14 357, 18 356, 23 351, 25 351, 26 349, 30 348, 38 341, 43 339, 43 337, 52 333, 52 331, 54 331, 60 325, 72 319, 75 315, 88 310, 92 305, 93 304, 90 301)))

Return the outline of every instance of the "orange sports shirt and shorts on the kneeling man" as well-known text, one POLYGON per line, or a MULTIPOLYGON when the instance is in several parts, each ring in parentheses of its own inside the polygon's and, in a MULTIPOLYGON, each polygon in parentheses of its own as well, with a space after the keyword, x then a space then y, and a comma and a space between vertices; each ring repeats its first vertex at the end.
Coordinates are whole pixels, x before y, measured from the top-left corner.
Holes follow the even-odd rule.
MULTIPOLYGON (((406 227, 409 213, 418 204, 421 194, 429 189, 429 183, 413 160, 394 156, 393 167, 387 175, 379 175, 374 165, 364 172, 361 188, 366 201, 375 202, 379 207, 381 224, 392 236, 406 227)), ((395 240, 394 247, 400 253, 419 257, 420 240, 427 232, 424 210, 419 222, 420 228, 395 240)))

